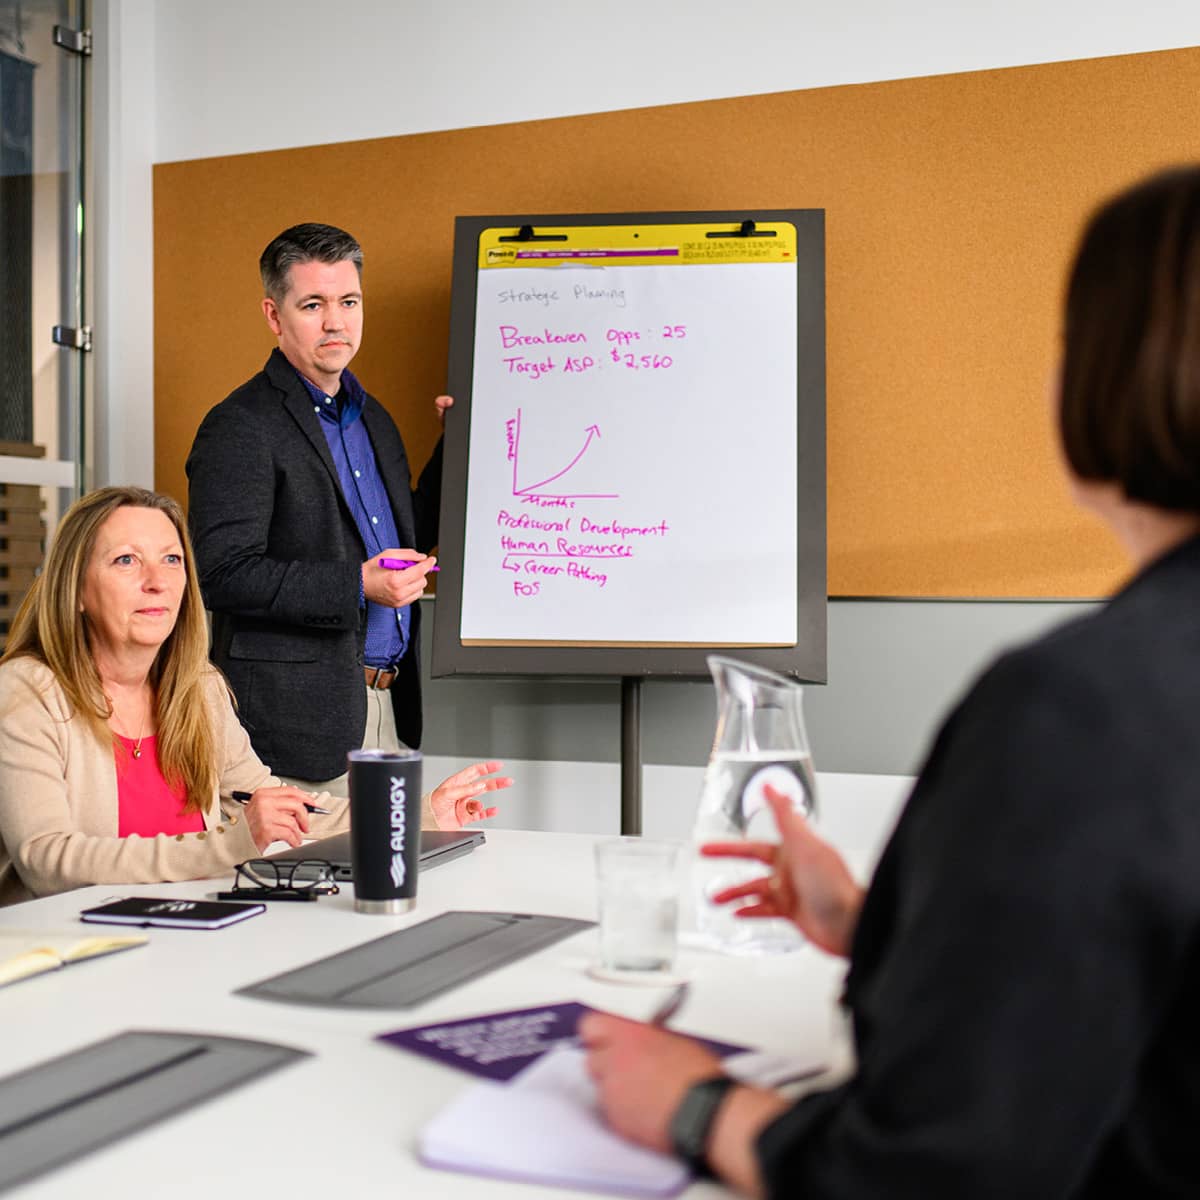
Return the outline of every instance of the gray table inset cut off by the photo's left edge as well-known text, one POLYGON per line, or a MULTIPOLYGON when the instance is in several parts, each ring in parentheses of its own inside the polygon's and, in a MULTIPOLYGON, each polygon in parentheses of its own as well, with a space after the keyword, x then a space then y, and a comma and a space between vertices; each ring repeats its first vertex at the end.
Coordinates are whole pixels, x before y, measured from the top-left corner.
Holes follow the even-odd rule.
POLYGON ((131 1030, 0 1079, 0 1192, 277 1067, 307 1050, 131 1030))

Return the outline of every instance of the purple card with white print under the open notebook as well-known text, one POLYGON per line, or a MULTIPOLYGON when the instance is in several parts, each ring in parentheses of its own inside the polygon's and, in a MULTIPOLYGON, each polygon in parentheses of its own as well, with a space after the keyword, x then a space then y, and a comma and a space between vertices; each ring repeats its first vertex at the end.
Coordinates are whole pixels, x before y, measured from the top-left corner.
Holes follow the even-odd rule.
MULTIPOLYGON (((575 1002, 514 1008, 506 1013, 485 1013, 457 1021, 394 1030, 380 1033, 378 1040, 402 1050, 414 1050, 473 1075, 505 1082, 551 1046, 570 1042, 580 1018, 593 1012, 595 1009, 587 1004, 575 1002)), ((727 1042, 700 1040, 719 1055, 743 1049, 727 1042)))

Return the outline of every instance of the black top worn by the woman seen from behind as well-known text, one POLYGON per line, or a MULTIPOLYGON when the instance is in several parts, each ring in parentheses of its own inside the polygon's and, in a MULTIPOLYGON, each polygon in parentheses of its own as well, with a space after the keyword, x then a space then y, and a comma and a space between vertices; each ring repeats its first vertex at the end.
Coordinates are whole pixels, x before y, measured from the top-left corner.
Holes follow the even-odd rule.
POLYGON ((1200 540, 992 666, 871 883, 772 1196, 1200 1196, 1200 540))

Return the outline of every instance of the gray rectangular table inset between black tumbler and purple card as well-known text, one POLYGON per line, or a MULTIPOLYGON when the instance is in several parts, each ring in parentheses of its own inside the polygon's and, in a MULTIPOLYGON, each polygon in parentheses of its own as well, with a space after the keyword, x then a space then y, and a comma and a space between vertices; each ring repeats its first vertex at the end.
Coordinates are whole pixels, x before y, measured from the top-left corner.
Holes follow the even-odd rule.
POLYGON ((536 913, 445 912, 239 992, 293 1004, 410 1008, 593 924, 536 913))

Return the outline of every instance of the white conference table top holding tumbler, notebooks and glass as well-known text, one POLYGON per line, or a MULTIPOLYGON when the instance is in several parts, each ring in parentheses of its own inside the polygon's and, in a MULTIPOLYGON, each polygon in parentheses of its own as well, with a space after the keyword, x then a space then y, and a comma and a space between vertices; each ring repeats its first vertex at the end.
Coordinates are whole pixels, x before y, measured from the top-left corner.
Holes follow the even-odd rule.
MULTIPOLYGON (((131 1028, 258 1038, 313 1057, 32 1180, 22 1200, 229 1195, 406 1198, 546 1196, 556 1189, 422 1166, 416 1134, 472 1076, 374 1042, 406 1026, 577 1000, 648 1016, 661 988, 602 983, 587 973, 594 929, 396 1010, 314 1008, 234 990, 454 908, 594 919, 593 844, 581 834, 490 830, 486 845, 421 877, 416 911, 355 913, 353 892, 316 904, 269 904, 224 930, 150 929, 150 944, 0 989, 0 1075, 131 1028)), ((684 875, 686 868, 683 869, 684 875)), ((203 896, 212 881, 96 887, 0 910, 0 926, 76 928, 82 908, 116 895, 203 896)), ((97 926, 96 931, 118 926, 97 926)), ((836 1057, 842 966, 811 947, 730 958, 680 952, 691 980, 676 1025, 686 1032, 820 1058, 836 1057)), ((688 1196, 727 1195, 695 1183, 688 1196)))

